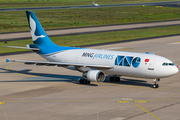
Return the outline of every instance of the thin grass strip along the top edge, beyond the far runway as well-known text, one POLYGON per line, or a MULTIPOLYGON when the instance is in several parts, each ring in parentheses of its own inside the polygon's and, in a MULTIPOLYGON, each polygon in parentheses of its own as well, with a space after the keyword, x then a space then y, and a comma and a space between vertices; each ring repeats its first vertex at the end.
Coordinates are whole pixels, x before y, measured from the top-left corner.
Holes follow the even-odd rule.
POLYGON ((1 8, 50 7, 92 5, 92 2, 104 4, 148 3, 177 0, 0 0, 1 8))

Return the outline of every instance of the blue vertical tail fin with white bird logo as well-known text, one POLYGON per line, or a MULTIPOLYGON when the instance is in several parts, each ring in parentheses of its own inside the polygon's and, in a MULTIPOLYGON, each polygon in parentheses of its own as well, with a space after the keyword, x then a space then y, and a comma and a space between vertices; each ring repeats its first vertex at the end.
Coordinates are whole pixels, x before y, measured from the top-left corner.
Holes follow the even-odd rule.
POLYGON ((34 44, 56 46, 47 36, 34 12, 26 11, 26 15, 34 44))

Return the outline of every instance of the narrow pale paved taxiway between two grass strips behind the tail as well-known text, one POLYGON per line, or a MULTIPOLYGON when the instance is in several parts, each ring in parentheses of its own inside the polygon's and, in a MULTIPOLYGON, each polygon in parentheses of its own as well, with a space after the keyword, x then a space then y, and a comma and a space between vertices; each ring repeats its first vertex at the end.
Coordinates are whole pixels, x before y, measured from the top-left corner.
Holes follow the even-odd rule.
MULTIPOLYGON (((46 30, 46 33, 49 37, 55 37, 55 36, 135 30, 135 29, 147 29, 147 28, 156 28, 156 27, 168 27, 168 26, 177 26, 177 25, 180 25, 180 20, 107 25, 107 26, 93 26, 93 27, 82 27, 82 28, 65 28, 65 29, 57 29, 57 30, 46 30)), ((0 34, 0 42, 13 41, 13 40, 25 40, 25 39, 31 39, 31 38, 32 37, 31 37, 30 32, 1 33, 0 34)))

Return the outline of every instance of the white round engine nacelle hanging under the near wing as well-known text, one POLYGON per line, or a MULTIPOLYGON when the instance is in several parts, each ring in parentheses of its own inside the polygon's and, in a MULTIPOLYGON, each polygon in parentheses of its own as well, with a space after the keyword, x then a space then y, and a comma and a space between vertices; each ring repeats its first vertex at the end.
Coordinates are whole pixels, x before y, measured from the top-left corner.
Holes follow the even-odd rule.
POLYGON ((103 82, 105 74, 100 70, 89 70, 83 74, 83 77, 92 82, 103 82))

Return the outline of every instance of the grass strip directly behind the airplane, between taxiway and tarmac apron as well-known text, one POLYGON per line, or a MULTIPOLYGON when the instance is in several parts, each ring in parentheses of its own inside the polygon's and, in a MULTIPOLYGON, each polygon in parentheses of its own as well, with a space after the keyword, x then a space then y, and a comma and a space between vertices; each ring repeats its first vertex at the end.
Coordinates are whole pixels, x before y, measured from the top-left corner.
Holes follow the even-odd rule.
MULTIPOLYGON (((105 32, 96 34, 84 34, 84 35, 72 35, 72 36, 61 36, 61 37, 51 37, 50 39, 59 46, 80 46, 89 45, 113 41, 140 39, 147 37, 156 37, 163 35, 179 34, 180 26, 172 27, 159 27, 159 28, 149 28, 149 29, 138 29, 129 31, 116 31, 116 32, 105 32)), ((7 46, 26 46, 27 44, 33 44, 32 40, 20 40, 20 41, 10 41, 8 43, 0 42, 0 53, 27 51, 23 49, 5 48, 3 45, 7 46)))

